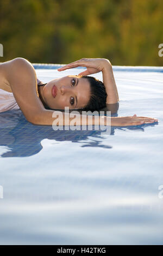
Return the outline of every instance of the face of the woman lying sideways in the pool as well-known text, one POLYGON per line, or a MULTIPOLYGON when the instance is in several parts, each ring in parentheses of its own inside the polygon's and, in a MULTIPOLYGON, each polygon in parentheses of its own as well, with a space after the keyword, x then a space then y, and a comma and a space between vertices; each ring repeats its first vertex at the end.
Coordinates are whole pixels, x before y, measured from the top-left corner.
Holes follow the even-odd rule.
POLYGON ((43 101, 49 108, 84 108, 90 100, 90 82, 80 76, 56 78, 40 87, 43 101))

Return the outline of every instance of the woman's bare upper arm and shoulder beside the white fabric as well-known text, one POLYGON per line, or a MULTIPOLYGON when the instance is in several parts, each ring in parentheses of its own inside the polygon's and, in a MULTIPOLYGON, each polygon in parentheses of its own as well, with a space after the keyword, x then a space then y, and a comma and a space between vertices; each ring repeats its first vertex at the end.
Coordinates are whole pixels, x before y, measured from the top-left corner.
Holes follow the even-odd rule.
POLYGON ((37 92, 36 72, 33 65, 27 59, 16 58, 3 63, 1 71, 24 116, 34 123, 45 108, 37 92))

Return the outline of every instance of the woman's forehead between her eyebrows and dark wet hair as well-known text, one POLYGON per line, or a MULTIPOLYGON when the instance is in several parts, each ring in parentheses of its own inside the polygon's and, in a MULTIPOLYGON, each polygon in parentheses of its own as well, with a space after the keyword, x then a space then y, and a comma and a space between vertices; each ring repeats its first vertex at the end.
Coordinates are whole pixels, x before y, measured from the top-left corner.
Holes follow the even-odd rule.
POLYGON ((78 85, 76 87, 76 94, 78 99, 77 108, 83 108, 90 100, 90 82, 86 78, 80 76, 69 76, 78 79, 78 85))

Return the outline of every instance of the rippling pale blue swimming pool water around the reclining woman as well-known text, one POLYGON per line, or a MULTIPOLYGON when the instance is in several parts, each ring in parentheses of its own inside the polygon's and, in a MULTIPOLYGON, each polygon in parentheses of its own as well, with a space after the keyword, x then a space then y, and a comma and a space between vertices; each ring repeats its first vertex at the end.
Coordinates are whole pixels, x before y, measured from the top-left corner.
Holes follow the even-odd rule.
MULTIPOLYGON (((83 70, 34 67, 43 82, 83 70)), ((20 110, 0 114, 1 245, 163 244, 163 68, 114 66, 114 75, 118 116, 158 124, 54 131, 20 110)))

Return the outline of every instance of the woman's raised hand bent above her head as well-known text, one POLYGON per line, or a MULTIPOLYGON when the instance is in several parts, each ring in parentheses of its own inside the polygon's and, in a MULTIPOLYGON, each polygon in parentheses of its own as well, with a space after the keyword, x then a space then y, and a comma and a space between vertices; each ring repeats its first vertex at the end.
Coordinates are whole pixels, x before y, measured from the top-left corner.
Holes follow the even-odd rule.
POLYGON ((104 67, 106 65, 111 65, 108 59, 101 59, 101 58, 96 58, 96 59, 79 59, 76 62, 72 62, 70 64, 67 64, 65 66, 62 66, 62 68, 59 68, 58 71, 63 71, 66 69, 72 69, 72 68, 77 68, 77 66, 85 66, 87 69, 83 72, 80 72, 78 74, 82 76, 87 76, 91 74, 96 74, 100 71, 103 71, 104 67))

